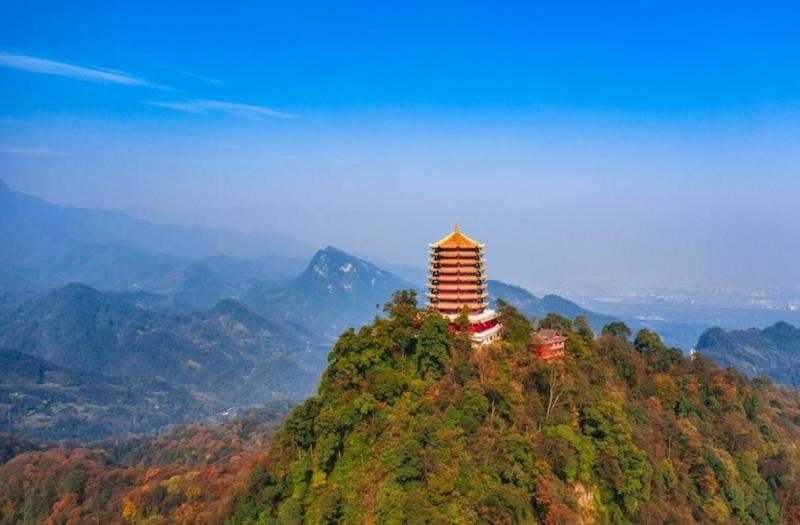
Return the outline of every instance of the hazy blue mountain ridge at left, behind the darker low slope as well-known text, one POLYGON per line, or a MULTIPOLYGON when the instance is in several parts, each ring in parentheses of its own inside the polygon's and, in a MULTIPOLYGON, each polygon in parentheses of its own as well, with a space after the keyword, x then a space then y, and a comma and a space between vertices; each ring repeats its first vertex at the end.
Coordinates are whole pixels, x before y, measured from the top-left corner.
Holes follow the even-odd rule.
POLYGON ((302 395, 316 372, 300 363, 317 344, 233 300, 181 313, 82 284, 0 315, 2 346, 57 366, 177 384, 215 404, 302 395))

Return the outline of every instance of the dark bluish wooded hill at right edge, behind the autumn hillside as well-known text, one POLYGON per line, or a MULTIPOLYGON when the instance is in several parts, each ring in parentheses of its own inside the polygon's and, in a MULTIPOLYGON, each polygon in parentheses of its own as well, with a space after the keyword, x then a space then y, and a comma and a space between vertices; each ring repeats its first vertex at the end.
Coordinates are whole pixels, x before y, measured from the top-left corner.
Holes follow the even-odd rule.
POLYGON ((706 330, 697 342, 701 354, 748 376, 766 375, 779 383, 800 386, 800 328, 775 323, 764 328, 706 330))

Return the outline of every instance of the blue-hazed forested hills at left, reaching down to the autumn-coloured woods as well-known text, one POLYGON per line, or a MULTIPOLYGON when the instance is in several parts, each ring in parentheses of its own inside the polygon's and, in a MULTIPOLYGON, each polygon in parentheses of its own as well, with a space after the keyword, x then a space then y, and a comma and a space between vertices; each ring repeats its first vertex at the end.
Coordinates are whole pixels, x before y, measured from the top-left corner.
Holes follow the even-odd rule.
POLYGON ((327 348, 313 333, 231 299, 206 312, 164 301, 71 284, 0 312, 0 430, 152 434, 313 391, 327 348))

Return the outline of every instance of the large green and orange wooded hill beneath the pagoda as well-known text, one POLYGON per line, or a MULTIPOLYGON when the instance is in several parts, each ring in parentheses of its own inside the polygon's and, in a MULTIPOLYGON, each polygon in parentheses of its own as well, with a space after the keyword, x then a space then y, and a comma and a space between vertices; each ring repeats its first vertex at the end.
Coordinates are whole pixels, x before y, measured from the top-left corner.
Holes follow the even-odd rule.
POLYGON ((685 358, 621 323, 541 321, 563 362, 474 350, 413 293, 348 331, 228 523, 791 523, 800 396, 685 358))

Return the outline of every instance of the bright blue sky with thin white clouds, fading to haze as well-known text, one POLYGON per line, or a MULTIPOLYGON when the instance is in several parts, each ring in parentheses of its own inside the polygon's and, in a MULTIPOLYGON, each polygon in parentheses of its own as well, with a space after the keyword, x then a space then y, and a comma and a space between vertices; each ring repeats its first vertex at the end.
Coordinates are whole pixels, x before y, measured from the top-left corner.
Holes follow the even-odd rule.
POLYGON ((800 8, 431 4, 5 2, 0 176, 417 264, 458 217, 537 290, 800 282, 800 8))

